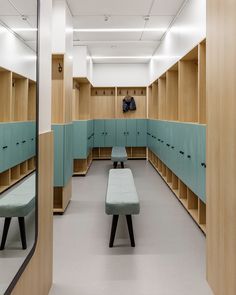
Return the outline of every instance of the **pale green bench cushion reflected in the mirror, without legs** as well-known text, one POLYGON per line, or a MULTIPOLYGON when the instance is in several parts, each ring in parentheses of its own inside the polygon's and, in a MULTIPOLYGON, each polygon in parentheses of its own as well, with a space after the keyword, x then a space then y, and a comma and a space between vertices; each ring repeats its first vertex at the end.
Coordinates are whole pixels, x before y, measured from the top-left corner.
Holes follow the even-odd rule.
POLYGON ((0 217, 24 217, 35 208, 35 175, 0 199, 0 217))

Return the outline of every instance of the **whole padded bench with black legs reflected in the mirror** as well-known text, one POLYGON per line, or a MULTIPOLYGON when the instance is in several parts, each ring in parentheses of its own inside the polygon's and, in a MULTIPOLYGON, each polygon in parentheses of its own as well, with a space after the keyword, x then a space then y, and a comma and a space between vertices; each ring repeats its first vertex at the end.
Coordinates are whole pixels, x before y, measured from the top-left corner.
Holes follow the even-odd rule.
POLYGON ((4 250, 11 219, 18 218, 22 249, 27 249, 25 217, 35 208, 35 174, 0 199, 0 217, 5 218, 0 250, 4 250))

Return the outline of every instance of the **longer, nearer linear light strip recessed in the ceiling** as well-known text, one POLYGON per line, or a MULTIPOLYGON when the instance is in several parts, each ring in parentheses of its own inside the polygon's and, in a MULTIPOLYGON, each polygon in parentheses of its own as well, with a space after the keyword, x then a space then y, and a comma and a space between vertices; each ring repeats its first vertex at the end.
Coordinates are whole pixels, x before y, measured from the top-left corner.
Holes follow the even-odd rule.
POLYGON ((112 28, 112 29, 74 29, 74 32, 80 33, 109 33, 109 32, 166 32, 167 28, 112 28))

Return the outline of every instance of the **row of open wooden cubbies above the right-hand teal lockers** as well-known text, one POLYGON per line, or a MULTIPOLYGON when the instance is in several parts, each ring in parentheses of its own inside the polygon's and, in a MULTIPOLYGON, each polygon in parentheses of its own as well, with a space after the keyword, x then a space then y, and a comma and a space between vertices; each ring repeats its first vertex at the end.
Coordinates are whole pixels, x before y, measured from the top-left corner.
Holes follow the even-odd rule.
POLYGON ((206 124, 206 41, 149 87, 149 118, 206 124))

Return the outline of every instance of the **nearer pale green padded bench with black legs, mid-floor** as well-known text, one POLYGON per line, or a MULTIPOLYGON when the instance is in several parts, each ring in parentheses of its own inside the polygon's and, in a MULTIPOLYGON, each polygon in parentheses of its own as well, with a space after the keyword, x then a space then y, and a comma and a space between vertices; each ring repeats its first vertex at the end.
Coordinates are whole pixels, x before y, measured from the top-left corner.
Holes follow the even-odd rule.
POLYGON ((119 215, 126 215, 131 246, 135 247, 132 215, 139 214, 140 204, 130 169, 111 169, 106 195, 106 214, 113 215, 109 247, 113 247, 119 215))

